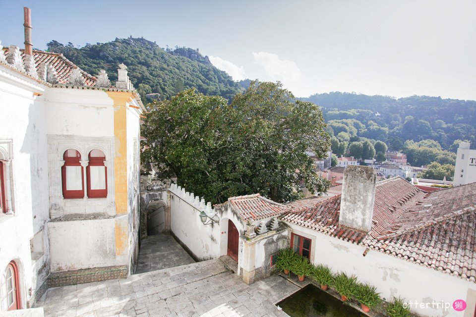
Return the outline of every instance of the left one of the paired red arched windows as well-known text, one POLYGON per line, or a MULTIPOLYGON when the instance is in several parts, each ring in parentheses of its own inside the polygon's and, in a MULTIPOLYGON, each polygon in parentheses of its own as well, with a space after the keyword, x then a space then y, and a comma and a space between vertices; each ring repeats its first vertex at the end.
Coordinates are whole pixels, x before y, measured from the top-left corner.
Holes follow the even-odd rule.
POLYGON ((64 198, 84 197, 84 170, 81 155, 76 150, 66 150, 63 154, 64 165, 61 167, 61 180, 64 198))

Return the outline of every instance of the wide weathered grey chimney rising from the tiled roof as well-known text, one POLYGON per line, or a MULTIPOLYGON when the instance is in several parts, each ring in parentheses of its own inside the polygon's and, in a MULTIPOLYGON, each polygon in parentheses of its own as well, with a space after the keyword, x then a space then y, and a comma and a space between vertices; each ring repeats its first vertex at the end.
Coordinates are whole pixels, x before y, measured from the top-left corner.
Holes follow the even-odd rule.
POLYGON ((372 228, 376 174, 371 166, 347 165, 339 224, 368 232, 372 228))

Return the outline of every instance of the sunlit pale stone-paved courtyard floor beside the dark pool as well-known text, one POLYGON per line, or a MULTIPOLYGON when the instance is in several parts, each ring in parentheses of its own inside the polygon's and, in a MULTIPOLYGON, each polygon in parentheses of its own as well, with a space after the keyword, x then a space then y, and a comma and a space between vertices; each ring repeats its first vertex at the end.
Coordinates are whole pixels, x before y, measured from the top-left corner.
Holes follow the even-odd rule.
POLYGON ((209 260, 50 288, 36 306, 58 317, 286 317, 274 304, 297 289, 278 275, 246 285, 220 260, 209 260))

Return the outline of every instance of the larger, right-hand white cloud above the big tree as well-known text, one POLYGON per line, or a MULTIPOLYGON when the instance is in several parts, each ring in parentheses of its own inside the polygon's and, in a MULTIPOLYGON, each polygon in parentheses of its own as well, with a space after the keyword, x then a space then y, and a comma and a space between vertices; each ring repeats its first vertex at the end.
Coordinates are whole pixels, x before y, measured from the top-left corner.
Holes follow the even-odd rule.
POLYGON ((296 63, 289 59, 279 59, 278 54, 266 52, 252 52, 254 62, 261 67, 273 79, 281 81, 297 81, 301 76, 301 71, 296 63))

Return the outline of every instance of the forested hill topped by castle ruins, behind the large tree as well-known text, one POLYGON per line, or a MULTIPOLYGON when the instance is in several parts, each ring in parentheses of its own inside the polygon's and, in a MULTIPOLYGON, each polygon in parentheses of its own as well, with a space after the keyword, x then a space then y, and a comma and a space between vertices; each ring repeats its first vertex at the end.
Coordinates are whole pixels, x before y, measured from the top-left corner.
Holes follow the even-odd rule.
POLYGON ((48 43, 50 52, 63 53, 81 69, 92 75, 105 69, 114 81, 118 64, 127 65, 132 84, 142 97, 160 93, 167 99, 187 88, 205 95, 218 95, 231 100, 243 88, 226 72, 213 66, 198 50, 160 48, 145 39, 116 39, 109 43, 87 44, 80 49, 73 44, 48 43))

